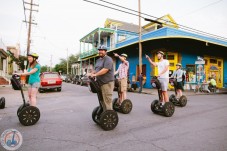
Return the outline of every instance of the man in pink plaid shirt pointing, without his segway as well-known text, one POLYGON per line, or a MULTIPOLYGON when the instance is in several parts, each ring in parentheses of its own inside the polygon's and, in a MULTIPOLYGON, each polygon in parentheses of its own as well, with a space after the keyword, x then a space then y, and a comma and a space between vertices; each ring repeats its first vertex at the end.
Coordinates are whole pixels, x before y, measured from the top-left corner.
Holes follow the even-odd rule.
POLYGON ((127 84, 128 84, 128 70, 129 70, 129 62, 126 60, 128 55, 127 54, 121 54, 118 55, 117 53, 114 53, 115 57, 118 57, 121 60, 121 64, 119 65, 117 71, 115 72, 115 75, 118 74, 118 81, 119 81, 119 100, 118 105, 121 105, 121 103, 127 98, 127 84))

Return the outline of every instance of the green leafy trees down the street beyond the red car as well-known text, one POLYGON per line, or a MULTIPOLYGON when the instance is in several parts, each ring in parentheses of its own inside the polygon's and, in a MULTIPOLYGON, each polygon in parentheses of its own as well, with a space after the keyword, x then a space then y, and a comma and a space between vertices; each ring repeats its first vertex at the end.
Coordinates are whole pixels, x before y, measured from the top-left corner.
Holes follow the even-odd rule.
MULTIPOLYGON (((76 55, 71 54, 69 56, 69 58, 68 58, 68 61, 69 61, 68 71, 71 71, 71 65, 73 63, 77 62, 78 59, 79 59, 79 54, 76 54, 76 55)), ((56 72, 61 71, 62 74, 66 74, 67 73, 67 59, 61 58, 60 63, 55 65, 54 70, 56 72)))

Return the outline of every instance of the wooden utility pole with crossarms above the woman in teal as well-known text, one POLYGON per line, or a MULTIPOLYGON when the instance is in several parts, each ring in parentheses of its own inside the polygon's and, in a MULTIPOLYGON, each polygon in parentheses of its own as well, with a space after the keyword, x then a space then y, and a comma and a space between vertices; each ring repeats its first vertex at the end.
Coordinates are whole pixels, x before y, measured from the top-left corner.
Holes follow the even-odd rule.
POLYGON ((38 10, 34 10, 34 9, 33 9, 33 6, 39 6, 39 5, 33 4, 33 0, 31 0, 30 3, 24 2, 24 0, 23 0, 23 3, 24 3, 24 4, 30 5, 30 9, 27 9, 27 8, 24 7, 25 10, 29 10, 29 11, 30 11, 30 13, 29 13, 29 21, 28 21, 28 22, 27 22, 26 20, 24 21, 24 22, 26 22, 26 23, 29 24, 29 26, 28 26, 28 40, 27 40, 27 55, 28 55, 29 52, 30 52, 30 44, 31 44, 31 28, 32 28, 32 24, 37 25, 37 23, 32 22, 32 11, 38 12, 38 10))

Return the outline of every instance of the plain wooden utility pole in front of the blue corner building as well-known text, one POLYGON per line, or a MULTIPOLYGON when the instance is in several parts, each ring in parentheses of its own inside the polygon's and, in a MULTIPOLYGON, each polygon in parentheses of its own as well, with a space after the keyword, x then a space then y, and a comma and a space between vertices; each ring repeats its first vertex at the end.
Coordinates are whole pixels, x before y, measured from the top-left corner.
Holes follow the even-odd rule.
MULTIPOLYGON (((139 12, 139 74, 142 73, 142 44, 141 44, 141 8, 140 0, 138 0, 138 12, 139 12)), ((146 73, 143 73, 146 74, 146 73)))

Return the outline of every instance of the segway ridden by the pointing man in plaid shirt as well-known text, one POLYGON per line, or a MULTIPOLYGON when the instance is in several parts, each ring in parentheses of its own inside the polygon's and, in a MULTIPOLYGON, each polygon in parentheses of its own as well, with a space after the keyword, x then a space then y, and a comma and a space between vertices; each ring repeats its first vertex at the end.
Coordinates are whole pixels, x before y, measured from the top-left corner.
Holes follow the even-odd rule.
POLYGON ((132 111, 132 102, 129 99, 125 99, 121 105, 118 105, 117 101, 120 99, 120 84, 118 79, 114 81, 114 87, 117 88, 118 98, 113 99, 113 109, 117 112, 121 112, 123 114, 128 114, 132 111))

